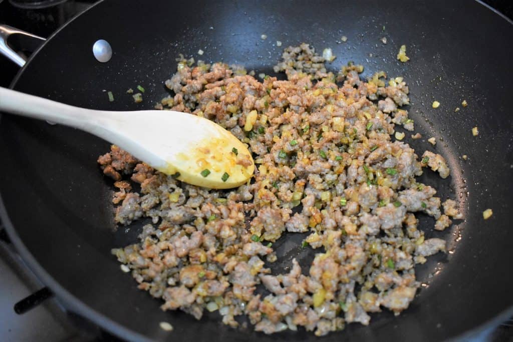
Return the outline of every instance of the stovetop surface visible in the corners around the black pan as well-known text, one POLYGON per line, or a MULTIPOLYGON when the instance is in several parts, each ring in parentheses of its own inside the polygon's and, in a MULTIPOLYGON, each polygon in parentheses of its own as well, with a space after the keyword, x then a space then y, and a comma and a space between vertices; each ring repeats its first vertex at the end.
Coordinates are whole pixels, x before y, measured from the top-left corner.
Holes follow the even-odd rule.
MULTIPOLYGON (((94 0, 0 0, 0 24, 48 37, 94 0)), ((510 0, 485 3, 513 17, 510 0)), ((0 56, 0 86, 7 87, 18 67, 0 56)), ((16 253, 0 223, 0 340, 16 341, 119 341, 85 319, 67 312, 28 269, 16 253)), ((513 319, 484 331, 475 341, 513 341, 513 319)))

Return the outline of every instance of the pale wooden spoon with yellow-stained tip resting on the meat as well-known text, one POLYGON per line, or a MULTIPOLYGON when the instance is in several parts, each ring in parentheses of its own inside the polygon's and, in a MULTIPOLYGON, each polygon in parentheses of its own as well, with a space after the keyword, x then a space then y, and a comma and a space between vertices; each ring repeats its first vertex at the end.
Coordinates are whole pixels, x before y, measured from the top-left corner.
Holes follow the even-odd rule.
POLYGON ((188 113, 92 110, 2 87, 0 110, 89 132, 156 170, 201 187, 238 187, 254 171, 246 145, 223 127, 188 113))

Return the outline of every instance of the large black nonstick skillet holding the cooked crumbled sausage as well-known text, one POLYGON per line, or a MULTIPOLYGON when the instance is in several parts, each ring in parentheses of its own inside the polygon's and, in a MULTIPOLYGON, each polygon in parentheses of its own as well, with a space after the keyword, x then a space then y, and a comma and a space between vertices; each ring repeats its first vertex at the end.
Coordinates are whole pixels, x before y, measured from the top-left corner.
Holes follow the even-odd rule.
MULTIPOLYGON (((206 61, 271 73, 283 48, 275 41, 331 47, 337 59, 330 70, 354 61, 365 66, 364 76, 378 70, 404 76, 410 116, 424 137, 408 141, 419 154, 427 148, 443 154, 452 170, 446 180, 432 172, 422 179, 443 198, 456 198, 465 215, 445 232, 433 232, 433 221, 420 216, 426 236, 447 238, 451 252, 417 268, 426 286, 408 310, 399 317, 374 314, 370 326, 351 324, 322 340, 465 338, 513 314, 513 25, 481 3, 103 1, 50 37, 12 88, 87 108, 150 109, 167 94, 163 81, 179 53, 198 59, 202 49, 206 61), (347 42, 339 43, 342 35, 347 42), (100 38, 114 51, 106 64, 91 52, 100 38), (396 59, 402 44, 411 58, 405 64, 396 59), (125 93, 137 84, 146 88, 139 105, 125 93), (114 102, 103 90, 113 92, 114 102), (436 110, 433 100, 441 103, 436 110), (436 147, 426 143, 429 136, 437 137, 436 147), (486 208, 494 210, 487 221, 486 208)), ((111 181, 96 165, 109 144, 10 115, 1 118, 0 140, 2 220, 19 253, 70 311, 129 340, 317 339, 303 330, 266 336, 231 329, 217 314, 196 321, 162 312, 160 301, 137 290, 110 254, 135 242, 141 223, 114 230, 111 181), (174 331, 163 331, 161 321, 174 331)), ((306 262, 300 240, 293 234, 280 240, 282 261, 274 270, 288 267, 293 255, 306 262)))

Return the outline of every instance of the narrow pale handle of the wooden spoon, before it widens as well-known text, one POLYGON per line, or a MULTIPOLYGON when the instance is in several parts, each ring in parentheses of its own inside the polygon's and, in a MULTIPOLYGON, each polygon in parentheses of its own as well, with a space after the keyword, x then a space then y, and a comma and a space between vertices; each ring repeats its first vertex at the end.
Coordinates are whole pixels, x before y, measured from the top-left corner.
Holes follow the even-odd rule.
POLYGON ((15 90, 0 87, 0 111, 28 116, 85 131, 100 124, 101 111, 58 103, 15 90))

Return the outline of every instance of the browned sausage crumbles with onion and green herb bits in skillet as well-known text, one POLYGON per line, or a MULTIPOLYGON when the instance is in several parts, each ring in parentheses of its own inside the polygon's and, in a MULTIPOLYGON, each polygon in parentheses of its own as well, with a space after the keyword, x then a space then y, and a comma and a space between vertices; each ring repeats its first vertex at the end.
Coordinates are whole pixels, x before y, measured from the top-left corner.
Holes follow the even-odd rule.
POLYGON ((166 81, 175 95, 157 108, 207 117, 247 143, 258 166, 251 184, 187 185, 115 146, 98 158, 119 188, 116 222, 152 218, 140 243, 113 253, 140 289, 164 300, 163 310, 198 319, 219 310, 232 327, 247 315, 267 334, 302 326, 322 336, 346 323, 368 325, 369 313, 383 308, 399 314, 419 287, 415 264, 445 251, 444 240, 424 239, 415 213, 434 217, 437 230, 461 214, 450 199, 442 214, 436 190, 415 177, 428 167, 445 178, 447 164, 391 140, 394 125, 413 130, 400 109, 409 103, 405 82, 386 85, 383 72, 366 82, 352 64, 335 75, 324 62, 302 44, 285 49, 275 67, 288 81, 259 82, 240 68, 185 59, 166 81), (126 175, 140 193, 130 192, 126 175), (305 248, 319 250, 308 275, 295 259, 289 273, 265 267, 286 232, 309 232, 305 248), (259 284, 268 295, 255 293, 259 284))

